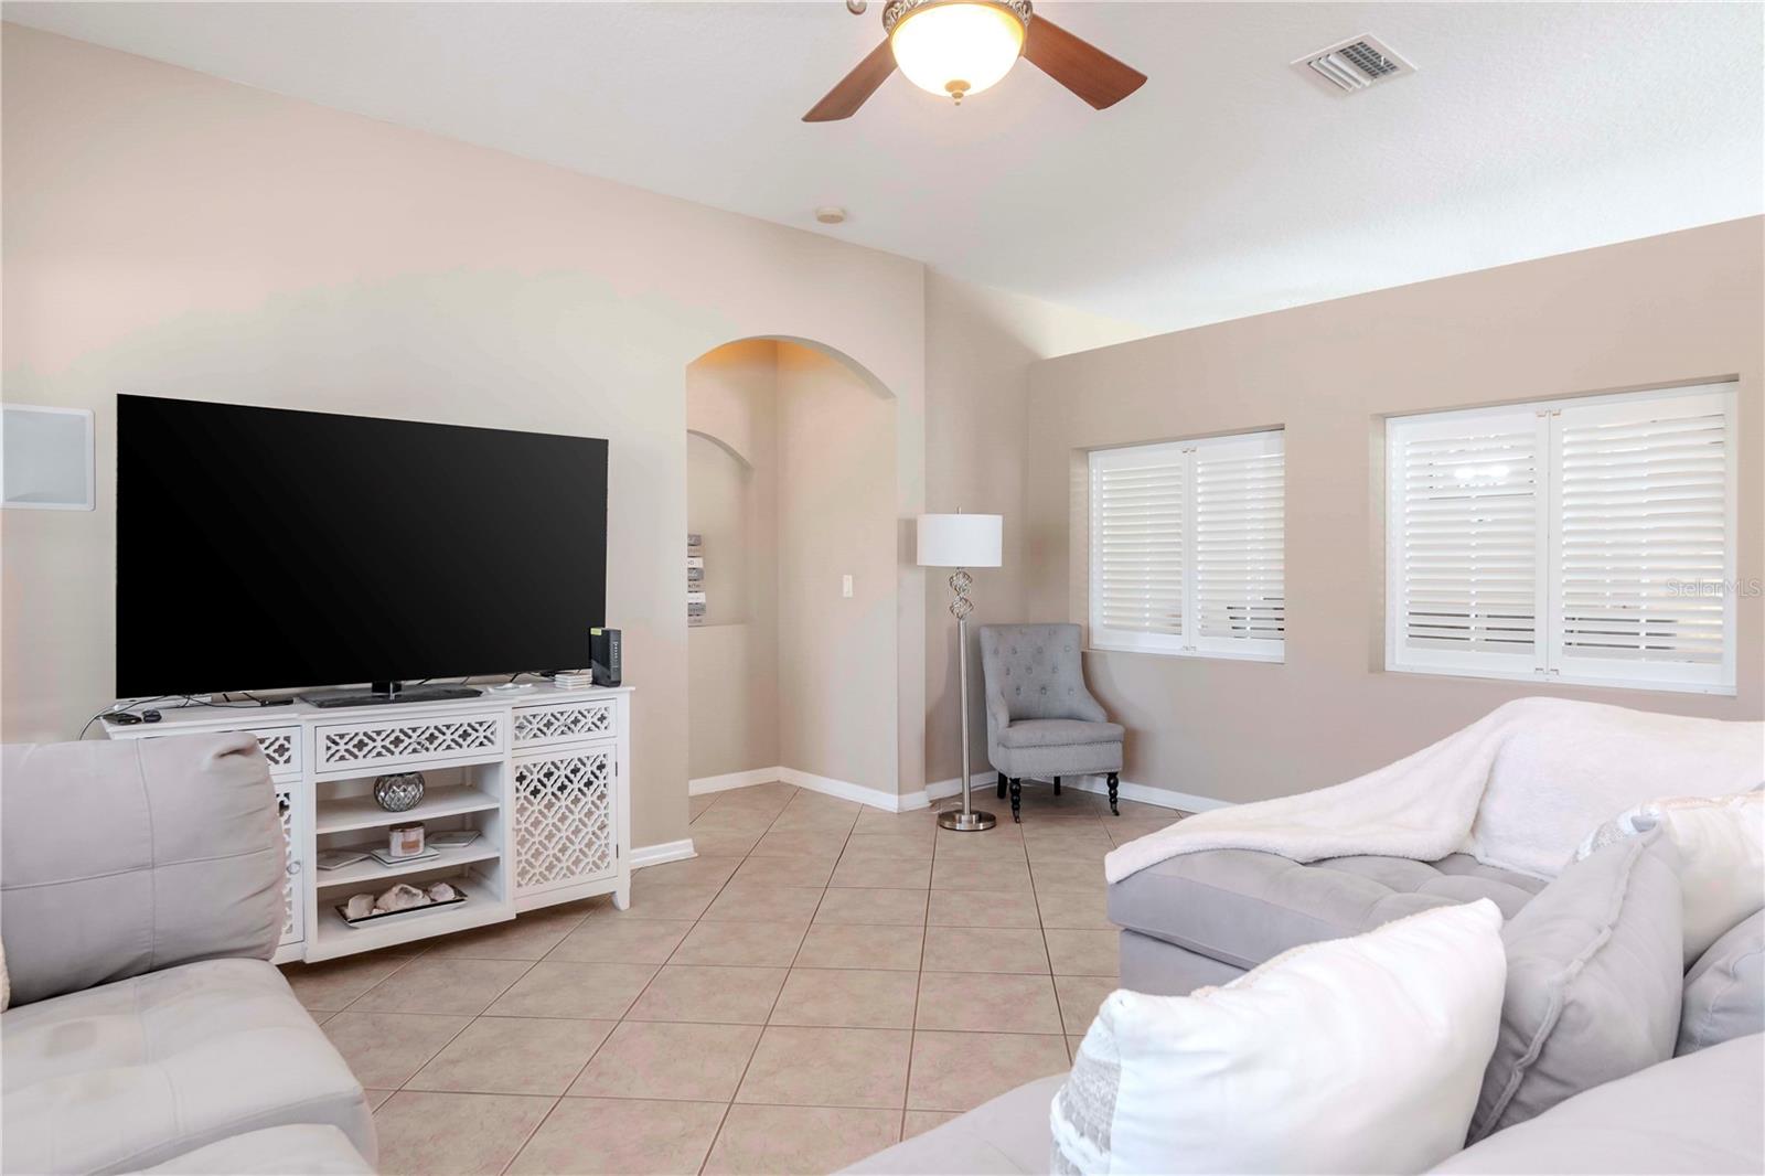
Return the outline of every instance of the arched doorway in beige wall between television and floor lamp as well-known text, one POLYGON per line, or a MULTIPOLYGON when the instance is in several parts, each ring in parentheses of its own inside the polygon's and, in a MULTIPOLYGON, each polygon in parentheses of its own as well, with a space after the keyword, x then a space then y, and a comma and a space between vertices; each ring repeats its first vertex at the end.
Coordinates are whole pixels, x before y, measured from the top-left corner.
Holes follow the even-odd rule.
POLYGON ((688 364, 694 791, 784 775, 893 805, 895 417, 874 376, 801 339, 741 339, 688 364))

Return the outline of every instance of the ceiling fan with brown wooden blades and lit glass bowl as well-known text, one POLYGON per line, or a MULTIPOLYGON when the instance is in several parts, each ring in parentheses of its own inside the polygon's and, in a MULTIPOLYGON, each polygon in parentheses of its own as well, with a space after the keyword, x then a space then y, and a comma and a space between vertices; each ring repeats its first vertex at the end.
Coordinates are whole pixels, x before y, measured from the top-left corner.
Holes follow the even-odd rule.
MULTIPOLYGON (((847 0, 852 12, 863 2, 847 0)), ((1145 83, 1145 74, 1080 41, 1045 16, 1031 0, 890 0, 882 7, 888 37, 858 69, 803 115, 803 122, 851 118, 898 67, 907 81, 958 104, 997 83, 1029 58, 1041 72, 1107 109, 1145 83)))

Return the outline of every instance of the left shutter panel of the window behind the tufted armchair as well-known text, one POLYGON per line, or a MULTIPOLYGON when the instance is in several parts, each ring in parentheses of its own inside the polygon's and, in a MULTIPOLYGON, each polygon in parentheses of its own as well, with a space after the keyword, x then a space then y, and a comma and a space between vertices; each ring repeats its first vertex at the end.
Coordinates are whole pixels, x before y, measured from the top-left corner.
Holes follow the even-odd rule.
POLYGON ((1091 454, 1091 641, 1183 646, 1190 457, 1177 445, 1091 454))

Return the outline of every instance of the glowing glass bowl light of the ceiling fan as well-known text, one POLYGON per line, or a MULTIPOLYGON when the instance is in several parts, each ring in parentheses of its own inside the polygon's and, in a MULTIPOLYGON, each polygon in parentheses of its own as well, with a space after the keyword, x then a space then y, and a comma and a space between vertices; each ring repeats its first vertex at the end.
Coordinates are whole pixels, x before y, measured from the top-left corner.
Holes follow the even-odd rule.
POLYGON ((1029 0, 890 0, 882 26, 907 81, 960 102, 1011 72, 1029 16, 1029 0))

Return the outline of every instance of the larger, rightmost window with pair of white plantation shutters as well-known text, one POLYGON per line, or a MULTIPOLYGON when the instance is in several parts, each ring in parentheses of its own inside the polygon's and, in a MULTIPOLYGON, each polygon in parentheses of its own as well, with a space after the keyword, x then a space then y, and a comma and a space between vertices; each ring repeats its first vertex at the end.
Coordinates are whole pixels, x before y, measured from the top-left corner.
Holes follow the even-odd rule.
POLYGON ((1731 385, 1396 417, 1386 667, 1735 689, 1731 385))

